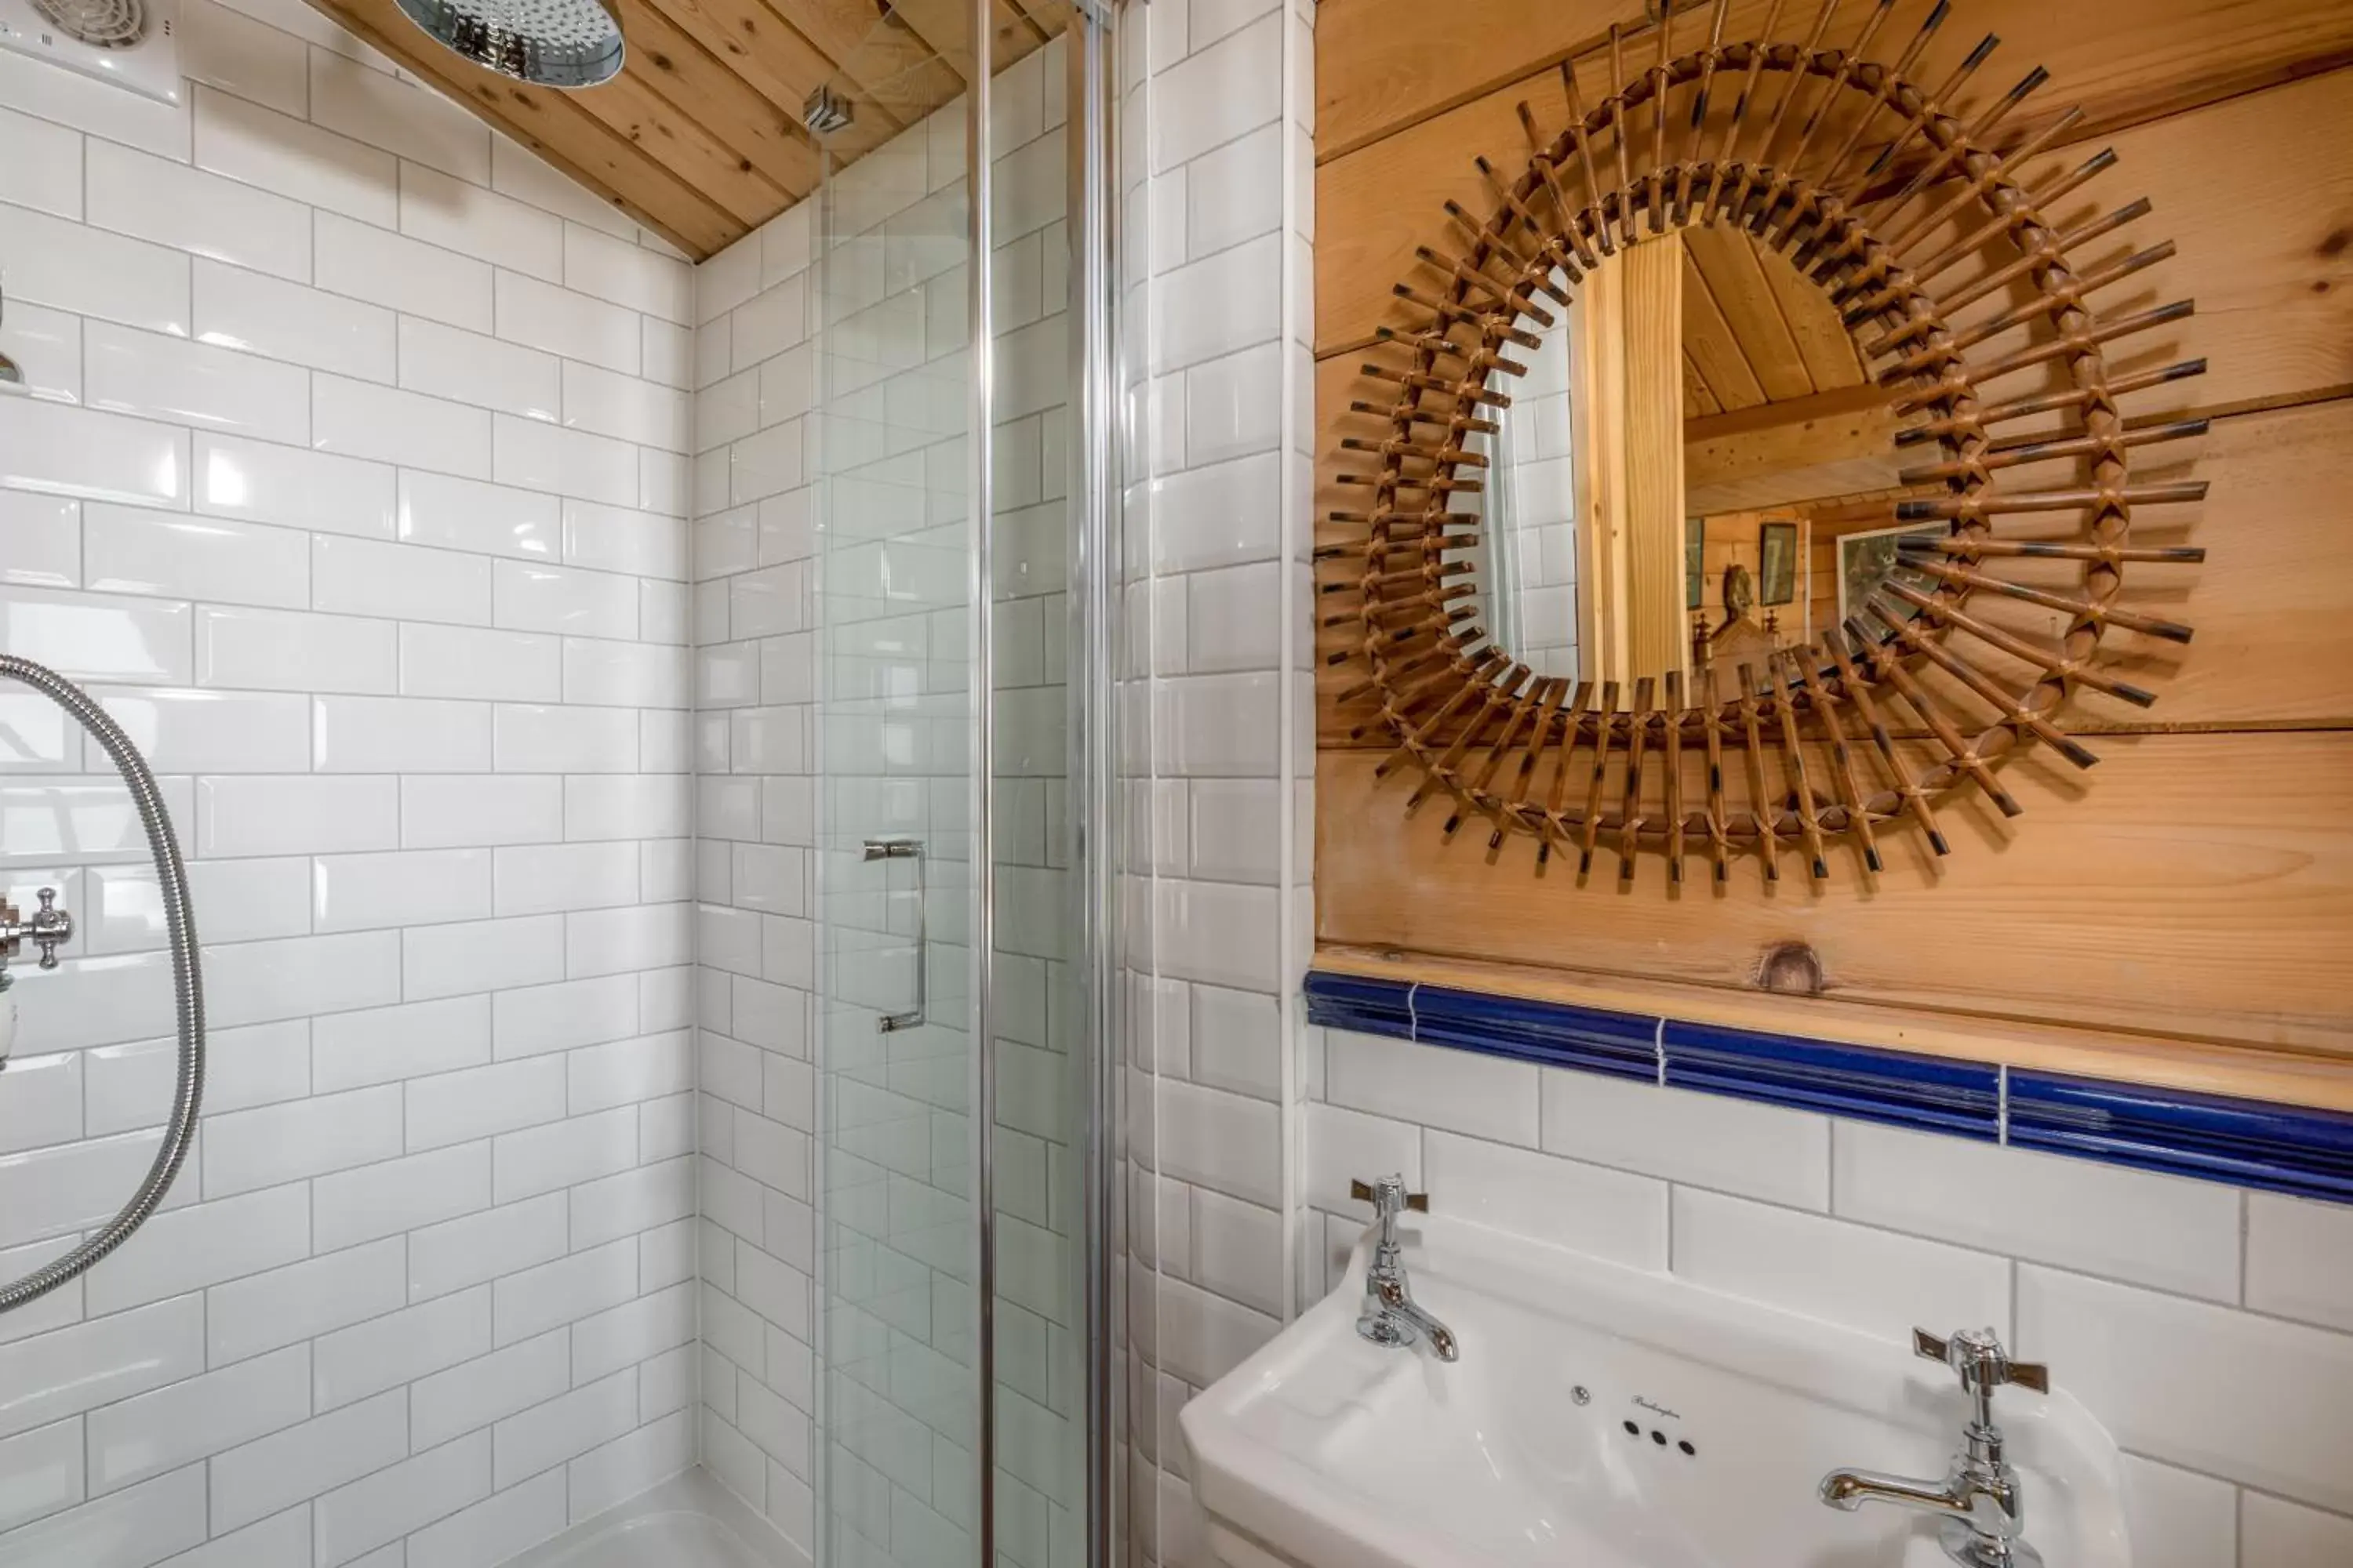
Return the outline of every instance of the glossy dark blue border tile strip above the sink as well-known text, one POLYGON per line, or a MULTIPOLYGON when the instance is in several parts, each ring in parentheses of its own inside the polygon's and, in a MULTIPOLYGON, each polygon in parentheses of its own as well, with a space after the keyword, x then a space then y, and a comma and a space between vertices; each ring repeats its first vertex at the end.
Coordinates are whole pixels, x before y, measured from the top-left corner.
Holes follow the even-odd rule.
MULTIPOLYGON (((1560 1001, 1308 973, 1308 1020, 1704 1093, 2005 1135, 2002 1070, 1560 1001)), ((2007 1143, 2167 1175, 2353 1204, 2353 1114, 2054 1072, 2009 1074, 2007 1143)))

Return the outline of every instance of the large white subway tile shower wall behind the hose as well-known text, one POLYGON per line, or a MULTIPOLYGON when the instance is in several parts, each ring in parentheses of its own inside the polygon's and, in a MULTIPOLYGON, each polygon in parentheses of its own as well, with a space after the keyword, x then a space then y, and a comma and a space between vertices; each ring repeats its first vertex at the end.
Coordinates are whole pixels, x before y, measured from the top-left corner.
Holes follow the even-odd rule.
MULTIPOLYGON (((0 59, 0 646, 162 776, 214 1023, 167 1208, 0 1319, 0 1563, 492 1563, 696 1453, 692 270, 301 5, 181 16, 181 108, 0 59)), ((82 917, 16 971, 14 1276, 174 1041, 104 755, 0 738, 0 882, 82 917)))

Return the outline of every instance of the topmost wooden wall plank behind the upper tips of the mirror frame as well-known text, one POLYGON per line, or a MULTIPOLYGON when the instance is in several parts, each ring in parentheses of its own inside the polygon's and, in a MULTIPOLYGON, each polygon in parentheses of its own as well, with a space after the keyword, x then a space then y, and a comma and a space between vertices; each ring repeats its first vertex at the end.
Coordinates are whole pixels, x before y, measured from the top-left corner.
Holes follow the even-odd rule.
MULTIPOLYGON (((1840 47, 1866 14, 1847 9, 1852 14, 1831 33, 1840 47)), ((1901 0, 1889 31, 1908 38, 1927 9, 1929 0, 1901 0)), ((1767 0, 1734 0, 1725 38, 1755 35, 1765 12, 1767 0)), ((1640 21, 1635 0, 1457 0, 1442 28, 1428 26, 1428 0, 1322 0, 1315 12, 1315 155, 1320 162, 1348 158, 1381 136, 1548 73, 1562 59, 1591 56, 1605 47, 1612 24, 1640 21)), ((1675 7, 1678 47, 1687 28, 1694 38, 1706 33, 1704 7, 1699 14, 1675 7)), ((2085 139, 2353 63, 2353 7, 2341 0, 2134 0, 2113 16, 2049 0, 1967 0, 1953 7, 1939 49, 1958 59, 1986 33, 2000 35, 2002 47, 1962 106, 1991 101, 2028 66, 2042 63, 2052 71, 2045 89, 2052 101, 2035 113, 2082 103, 2085 139)), ((1649 59, 1647 26, 1631 47, 1649 59)), ((2033 122, 2035 115, 2021 115, 2012 129, 2021 134, 2033 122)))

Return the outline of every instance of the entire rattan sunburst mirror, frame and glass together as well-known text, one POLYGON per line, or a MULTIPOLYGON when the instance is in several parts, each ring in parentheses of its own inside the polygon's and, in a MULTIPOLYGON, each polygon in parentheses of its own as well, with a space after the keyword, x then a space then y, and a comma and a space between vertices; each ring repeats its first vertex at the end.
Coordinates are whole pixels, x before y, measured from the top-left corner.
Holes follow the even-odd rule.
POLYGON ((1433 214, 1362 367, 1362 501, 1318 550, 1341 698, 1492 856, 1944 856, 1953 792, 2019 813, 2024 748, 2092 766, 2078 689, 2155 701, 2104 637, 2191 639, 2125 569, 2202 559, 2132 534, 2205 487, 2129 465, 2205 421, 2125 402, 2202 362, 2108 362, 2191 313, 2118 287, 2172 244, 2089 200, 2115 158, 2066 150, 2080 110, 2009 129, 2040 68, 1962 118, 1993 38, 1944 59, 1946 5, 1908 40, 1894 0, 1840 9, 1725 42, 1715 0, 1642 59, 1612 31, 1591 108, 1565 63, 1565 125, 1522 103, 1527 146, 1475 158, 1485 212, 1433 214))

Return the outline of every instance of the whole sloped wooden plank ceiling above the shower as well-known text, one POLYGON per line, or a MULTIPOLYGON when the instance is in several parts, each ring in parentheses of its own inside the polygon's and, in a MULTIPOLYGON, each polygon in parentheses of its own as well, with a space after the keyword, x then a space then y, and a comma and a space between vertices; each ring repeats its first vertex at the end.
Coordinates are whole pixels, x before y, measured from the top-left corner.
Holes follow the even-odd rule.
MULTIPOLYGON (((607 0, 628 40, 612 82, 527 87, 426 38, 393 0, 311 0, 419 78, 701 261, 816 190, 802 103, 831 82, 847 162, 972 78, 965 0, 607 0)), ((1064 0, 991 0, 993 71, 1061 31, 1064 0)))

